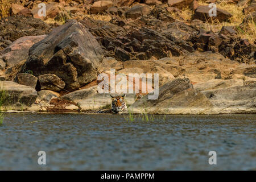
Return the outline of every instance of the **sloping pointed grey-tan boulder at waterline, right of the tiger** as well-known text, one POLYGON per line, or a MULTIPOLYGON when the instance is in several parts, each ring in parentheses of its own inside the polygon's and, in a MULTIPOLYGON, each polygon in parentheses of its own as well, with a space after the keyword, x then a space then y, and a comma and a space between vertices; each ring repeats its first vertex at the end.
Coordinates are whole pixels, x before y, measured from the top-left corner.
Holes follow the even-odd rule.
POLYGON ((149 95, 131 105, 127 113, 203 114, 212 108, 204 94, 193 89, 187 77, 176 78, 160 87, 156 100, 148 100, 149 95))

